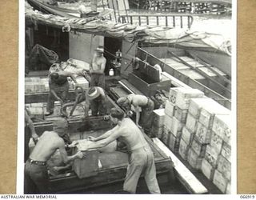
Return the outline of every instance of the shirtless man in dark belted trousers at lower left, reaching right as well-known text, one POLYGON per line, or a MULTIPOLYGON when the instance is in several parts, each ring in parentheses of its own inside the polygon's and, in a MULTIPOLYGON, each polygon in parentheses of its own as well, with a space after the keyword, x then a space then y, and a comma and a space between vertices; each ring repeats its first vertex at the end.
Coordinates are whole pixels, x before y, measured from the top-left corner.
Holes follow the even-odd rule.
POLYGON ((64 163, 85 157, 85 154, 82 152, 67 156, 65 143, 62 139, 62 136, 66 134, 67 127, 68 123, 66 119, 61 118, 54 122, 53 131, 45 131, 38 140, 25 164, 25 194, 46 194, 50 192, 46 162, 56 150, 59 150, 64 163))

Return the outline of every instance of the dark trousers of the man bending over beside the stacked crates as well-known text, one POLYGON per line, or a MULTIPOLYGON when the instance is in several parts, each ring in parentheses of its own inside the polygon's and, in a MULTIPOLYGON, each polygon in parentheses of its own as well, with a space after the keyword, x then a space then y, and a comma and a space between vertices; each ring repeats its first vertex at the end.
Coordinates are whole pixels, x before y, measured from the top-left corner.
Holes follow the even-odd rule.
POLYGON ((142 126, 146 134, 150 133, 153 120, 154 102, 149 98, 146 106, 142 106, 142 113, 138 124, 142 126))

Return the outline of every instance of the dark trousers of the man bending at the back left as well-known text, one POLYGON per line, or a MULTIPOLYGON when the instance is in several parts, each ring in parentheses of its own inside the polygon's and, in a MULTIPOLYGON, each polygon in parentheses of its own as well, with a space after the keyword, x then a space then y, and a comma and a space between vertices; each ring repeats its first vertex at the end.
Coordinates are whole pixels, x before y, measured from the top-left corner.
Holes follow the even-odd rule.
MULTIPOLYGON (((54 90, 55 93, 58 95, 59 98, 62 99, 62 101, 65 103, 67 94, 69 93, 70 85, 69 82, 64 83, 62 86, 58 86, 56 84, 52 84, 50 86, 51 90, 54 90)), ((53 112, 54 111, 54 101, 55 101, 54 94, 50 92, 48 96, 48 101, 47 101, 47 107, 46 110, 48 112, 53 112)))

